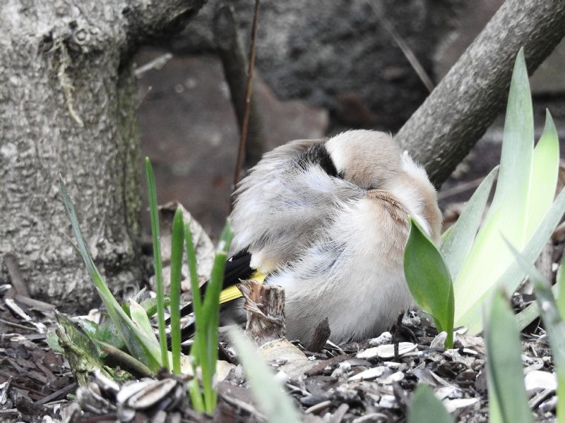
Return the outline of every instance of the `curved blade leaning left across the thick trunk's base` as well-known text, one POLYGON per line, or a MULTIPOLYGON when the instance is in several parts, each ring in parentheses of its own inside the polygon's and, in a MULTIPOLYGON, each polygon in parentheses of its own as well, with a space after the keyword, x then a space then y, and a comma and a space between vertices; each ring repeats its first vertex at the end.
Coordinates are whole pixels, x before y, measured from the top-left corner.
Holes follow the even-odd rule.
POLYGON ((78 252, 80 253, 85 265, 90 273, 90 277, 96 287, 102 302, 108 311, 110 319, 114 322, 117 332, 124 341, 124 344, 128 348, 129 352, 136 359, 143 362, 153 371, 156 371, 160 365, 159 355, 153 348, 152 343, 143 334, 137 333, 136 326, 129 319, 127 314, 121 309, 120 305, 112 295, 109 290, 104 278, 96 268, 90 253, 88 252, 88 247, 86 246, 81 228, 78 225, 78 217, 76 216, 76 211, 69 196, 69 192, 66 190, 65 183, 62 178, 59 177, 59 188, 61 194, 63 195, 63 202, 65 204, 66 210, 69 213, 71 219, 71 226, 73 228, 73 233, 76 238, 78 252))

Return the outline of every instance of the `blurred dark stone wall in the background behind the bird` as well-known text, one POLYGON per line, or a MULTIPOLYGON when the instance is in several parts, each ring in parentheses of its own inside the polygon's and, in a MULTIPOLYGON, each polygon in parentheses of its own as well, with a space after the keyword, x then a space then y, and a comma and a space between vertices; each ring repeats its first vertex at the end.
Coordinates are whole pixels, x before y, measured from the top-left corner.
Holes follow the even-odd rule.
MULTIPOLYGON (((396 133, 429 91, 386 26, 436 83, 502 2, 263 1, 254 101, 265 128, 265 149, 350 128, 396 133)), ((230 4, 247 54, 254 1, 230 4)), ((142 151, 153 161, 158 200, 182 202, 213 238, 230 209, 239 141, 230 89, 213 42, 218 6, 220 1, 208 1, 182 35, 136 57, 141 68, 172 54, 161 68, 139 75, 142 151)), ((547 107, 561 141, 565 138, 564 68, 561 42, 531 78, 537 136, 547 107)), ((468 198, 498 163, 503 123, 503 118, 496 120, 444 183, 439 194, 443 208, 468 198)), ((147 227, 148 217, 144 219, 147 227)))

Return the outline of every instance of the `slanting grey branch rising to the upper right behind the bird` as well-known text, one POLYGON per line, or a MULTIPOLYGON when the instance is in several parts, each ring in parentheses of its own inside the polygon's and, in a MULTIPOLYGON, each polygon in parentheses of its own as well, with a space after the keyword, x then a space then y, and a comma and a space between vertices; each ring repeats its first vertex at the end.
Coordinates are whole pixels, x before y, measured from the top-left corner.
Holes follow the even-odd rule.
POLYGON ((504 107, 518 50, 531 75, 564 35, 565 1, 506 0, 396 140, 441 185, 504 107))

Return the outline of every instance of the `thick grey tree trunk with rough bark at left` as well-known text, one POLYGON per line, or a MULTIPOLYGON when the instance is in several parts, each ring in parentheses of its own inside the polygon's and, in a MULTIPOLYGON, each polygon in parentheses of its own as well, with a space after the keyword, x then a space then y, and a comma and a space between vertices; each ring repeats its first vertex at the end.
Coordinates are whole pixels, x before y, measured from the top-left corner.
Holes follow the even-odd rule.
MULTIPOLYGON (((113 288, 139 283, 139 42, 182 25, 203 0, 6 0, 0 6, 0 255, 31 295, 63 309, 98 302, 57 188, 73 197, 113 288)), ((0 283, 7 274, 2 264, 0 283)))

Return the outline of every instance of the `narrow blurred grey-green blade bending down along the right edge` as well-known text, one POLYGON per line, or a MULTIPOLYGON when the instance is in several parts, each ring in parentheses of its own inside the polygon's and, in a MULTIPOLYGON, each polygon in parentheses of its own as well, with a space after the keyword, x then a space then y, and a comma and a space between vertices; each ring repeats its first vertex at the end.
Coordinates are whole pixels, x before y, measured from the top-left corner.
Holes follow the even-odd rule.
MULTIPOLYGON (((565 393, 565 385, 563 383, 565 382, 565 321, 561 319, 550 283, 540 274, 540 271, 522 257, 516 248, 510 244, 509 248, 523 271, 528 273, 528 277, 534 285, 537 307, 540 309, 547 338, 549 338, 549 345, 552 347, 554 369, 559 383, 558 394, 565 393)), ((565 401, 562 397, 560 400, 558 397, 557 404, 557 419, 561 422, 565 418, 565 401)))

